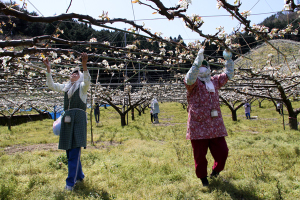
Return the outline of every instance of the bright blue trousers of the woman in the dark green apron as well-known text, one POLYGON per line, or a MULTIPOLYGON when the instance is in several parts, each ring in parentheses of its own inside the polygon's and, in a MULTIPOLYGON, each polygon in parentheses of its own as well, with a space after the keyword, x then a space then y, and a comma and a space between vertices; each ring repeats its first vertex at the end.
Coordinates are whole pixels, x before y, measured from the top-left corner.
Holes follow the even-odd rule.
POLYGON ((73 187, 78 180, 82 180, 84 178, 84 174, 82 172, 80 155, 81 155, 81 147, 77 147, 75 149, 69 149, 67 152, 68 158, 68 178, 66 179, 66 183, 68 186, 73 187))

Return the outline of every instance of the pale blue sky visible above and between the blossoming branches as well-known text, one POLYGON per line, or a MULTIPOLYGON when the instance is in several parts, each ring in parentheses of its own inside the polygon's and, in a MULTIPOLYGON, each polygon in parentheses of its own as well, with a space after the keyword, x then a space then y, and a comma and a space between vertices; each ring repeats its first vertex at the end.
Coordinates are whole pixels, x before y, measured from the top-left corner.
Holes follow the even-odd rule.
MULTIPOLYGON (((2 0, 7 1, 7 0, 2 0)), ((16 0, 22 5, 22 2, 27 3, 28 11, 35 11, 39 15, 53 16, 65 13, 70 0, 16 0)), ((141 0, 143 3, 151 4, 146 0, 141 0)), ((176 6, 178 0, 161 0, 166 7, 176 6)), ((227 0, 228 3, 233 4, 234 0, 227 0)), ((284 6, 283 0, 241 0, 242 6, 240 11, 251 9, 251 15, 248 17, 251 20, 251 25, 262 22, 265 18, 275 14, 274 12, 282 11, 284 6)), ((153 4, 152 4, 153 5, 153 4)), ((90 15, 95 19, 99 19, 102 12, 108 12, 110 18, 126 18, 128 20, 136 20, 136 23, 142 25, 145 23, 146 28, 151 28, 151 32, 161 32, 162 37, 181 37, 184 41, 194 42, 195 40, 202 41, 204 38, 197 33, 192 32, 185 27, 181 19, 169 21, 166 17, 160 14, 152 14, 153 9, 140 5, 132 4, 131 0, 73 0, 68 13, 78 13, 83 15, 90 15)), ((239 22, 229 16, 229 13, 223 8, 217 9, 216 0, 192 0, 189 6, 187 15, 198 14, 203 17, 204 24, 201 30, 204 34, 217 33, 217 27, 224 27, 227 33, 231 33, 234 27, 239 25, 239 22)), ((111 27, 119 29, 128 29, 131 26, 124 23, 107 24, 111 27)), ((94 27, 100 30, 99 27, 94 27)))

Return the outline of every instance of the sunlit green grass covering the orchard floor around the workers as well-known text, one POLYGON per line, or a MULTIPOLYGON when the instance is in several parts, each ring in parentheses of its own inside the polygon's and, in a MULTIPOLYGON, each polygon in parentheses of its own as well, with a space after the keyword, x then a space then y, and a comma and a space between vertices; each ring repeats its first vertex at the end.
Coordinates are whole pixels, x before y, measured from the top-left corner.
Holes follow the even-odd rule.
MULTIPOLYGON (((299 103, 294 103, 295 105, 299 103)), ((222 106, 229 136, 225 170, 203 188, 194 170, 190 141, 185 139, 187 112, 178 103, 160 104, 160 124, 150 122, 149 110, 121 127, 111 108, 101 107, 101 124, 88 123, 88 147, 82 150, 85 182, 65 192, 65 152, 57 149, 11 149, 57 143, 52 120, 0 126, 1 199, 300 199, 300 132, 283 130, 273 104, 252 105, 238 121, 222 106)), ((285 113, 287 113, 285 111, 285 113)), ((285 122, 288 122, 285 116, 285 122)), ((94 119, 93 119, 94 120, 94 119)), ((210 173, 213 159, 207 155, 210 173)))

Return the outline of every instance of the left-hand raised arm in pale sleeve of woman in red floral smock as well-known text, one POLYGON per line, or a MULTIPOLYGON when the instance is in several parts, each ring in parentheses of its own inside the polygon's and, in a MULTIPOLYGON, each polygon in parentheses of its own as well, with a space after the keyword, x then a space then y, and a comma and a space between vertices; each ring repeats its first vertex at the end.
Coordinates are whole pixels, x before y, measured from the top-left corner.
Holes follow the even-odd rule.
POLYGON ((185 83, 187 85, 193 85, 196 80, 197 80, 197 76, 199 73, 199 67, 202 65, 202 62, 204 60, 204 49, 200 49, 198 51, 197 57, 194 60, 194 63, 192 65, 192 67, 190 68, 190 70, 188 71, 188 73, 185 76, 185 83))

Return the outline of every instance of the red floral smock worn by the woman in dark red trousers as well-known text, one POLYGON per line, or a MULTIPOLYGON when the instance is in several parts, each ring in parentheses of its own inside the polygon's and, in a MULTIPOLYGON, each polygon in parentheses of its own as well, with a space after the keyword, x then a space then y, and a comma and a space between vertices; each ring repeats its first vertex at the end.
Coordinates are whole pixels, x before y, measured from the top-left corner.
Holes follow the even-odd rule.
POLYGON ((215 86, 215 92, 208 92, 205 84, 197 78, 193 85, 185 86, 187 88, 188 102, 188 122, 186 139, 199 140, 227 136, 227 131, 223 122, 218 89, 224 86, 228 77, 222 73, 211 77, 215 86), (211 117, 211 110, 216 109, 218 117, 211 117))

